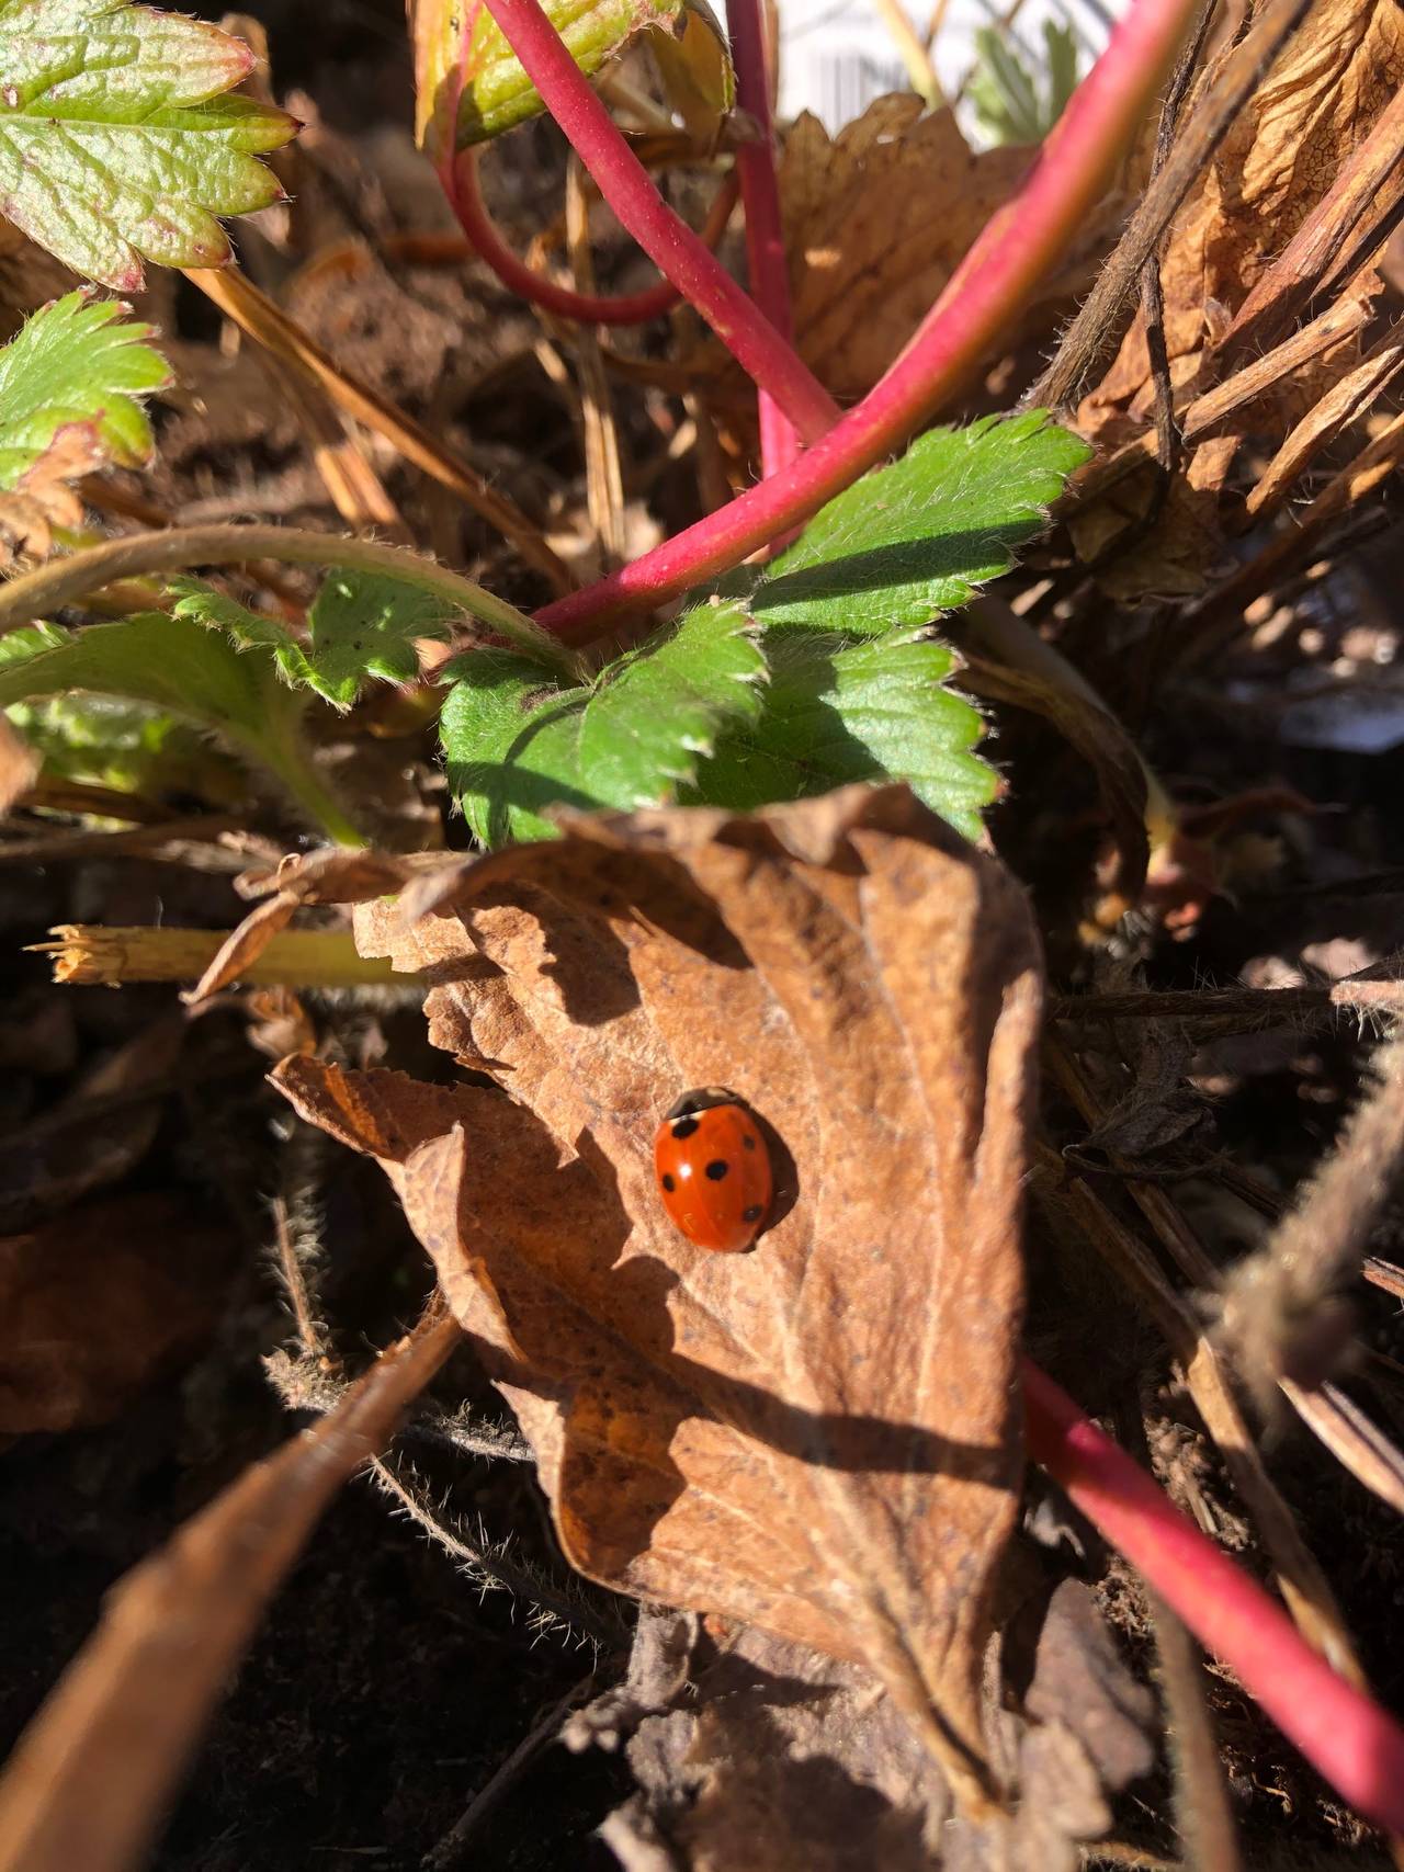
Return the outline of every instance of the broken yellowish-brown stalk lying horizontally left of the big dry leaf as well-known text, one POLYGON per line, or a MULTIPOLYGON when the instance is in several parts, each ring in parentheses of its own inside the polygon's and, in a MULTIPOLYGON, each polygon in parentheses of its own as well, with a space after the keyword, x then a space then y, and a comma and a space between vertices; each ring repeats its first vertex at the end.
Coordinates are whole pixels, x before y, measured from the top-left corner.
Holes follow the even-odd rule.
MULTIPOLYGON (((54 942, 32 943, 32 955, 52 955, 54 981, 69 987, 120 987, 124 981, 198 981, 227 930, 109 929, 101 923, 60 923, 54 942)), ((404 987, 389 964, 356 953, 350 930, 283 930, 243 970, 249 987, 384 988, 404 987)))

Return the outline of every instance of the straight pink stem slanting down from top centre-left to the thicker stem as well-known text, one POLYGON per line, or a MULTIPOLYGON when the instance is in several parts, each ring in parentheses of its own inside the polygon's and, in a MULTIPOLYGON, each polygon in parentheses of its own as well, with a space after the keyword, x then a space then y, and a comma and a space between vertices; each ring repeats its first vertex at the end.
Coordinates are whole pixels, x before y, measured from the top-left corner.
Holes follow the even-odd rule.
POLYGON ((541 0, 487 0, 487 6, 620 223, 706 318, 741 369, 769 391, 799 434, 805 440, 822 436, 837 416, 833 399, 721 260, 663 200, 577 67, 541 0))

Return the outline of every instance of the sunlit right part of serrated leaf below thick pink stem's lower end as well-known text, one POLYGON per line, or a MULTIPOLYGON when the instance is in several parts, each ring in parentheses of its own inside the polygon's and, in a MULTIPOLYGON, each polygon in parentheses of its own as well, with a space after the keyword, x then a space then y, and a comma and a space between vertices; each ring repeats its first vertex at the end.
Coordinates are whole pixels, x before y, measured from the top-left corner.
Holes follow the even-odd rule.
POLYGON ((739 605, 696 610, 599 678, 580 723, 580 781, 612 807, 663 805, 711 754, 717 732, 754 723, 766 659, 739 605))

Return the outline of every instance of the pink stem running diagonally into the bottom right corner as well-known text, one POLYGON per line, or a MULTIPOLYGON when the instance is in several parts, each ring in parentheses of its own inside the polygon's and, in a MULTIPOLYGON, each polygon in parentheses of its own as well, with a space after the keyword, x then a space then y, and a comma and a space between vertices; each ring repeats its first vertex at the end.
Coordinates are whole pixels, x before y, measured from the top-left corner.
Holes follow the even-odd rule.
POLYGON ((1151 1477, 1024 1361, 1028 1449, 1367 1820, 1404 1835, 1404 1730, 1338 1677, 1292 1619, 1151 1477))

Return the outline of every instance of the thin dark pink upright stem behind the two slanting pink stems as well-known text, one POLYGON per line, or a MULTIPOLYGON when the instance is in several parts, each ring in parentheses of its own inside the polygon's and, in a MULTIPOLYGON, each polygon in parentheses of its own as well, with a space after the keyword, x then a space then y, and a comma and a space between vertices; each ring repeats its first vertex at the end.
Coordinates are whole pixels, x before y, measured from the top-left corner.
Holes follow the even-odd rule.
MULTIPOLYGON (((775 125, 769 112, 766 32, 760 0, 726 0, 726 28, 736 62, 736 101, 756 125, 756 140, 736 152, 745 206, 745 258, 751 296, 782 339, 792 341, 790 271, 784 264, 781 185, 775 176, 775 125)), ((837 417, 835 410, 835 417, 837 417)), ((779 474, 799 453, 794 423, 768 391, 760 391, 760 468, 779 474)))

